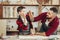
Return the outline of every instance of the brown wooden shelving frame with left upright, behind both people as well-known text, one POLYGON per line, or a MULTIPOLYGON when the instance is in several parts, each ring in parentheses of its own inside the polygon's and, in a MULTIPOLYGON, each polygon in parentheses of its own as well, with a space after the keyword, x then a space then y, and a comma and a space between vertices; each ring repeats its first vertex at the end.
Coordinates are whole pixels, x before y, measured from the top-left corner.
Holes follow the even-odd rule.
MULTIPOLYGON (((3 18, 3 7, 4 6, 39 6, 39 5, 17 5, 17 4, 0 4, 0 19, 17 19, 17 18, 3 18)), ((42 6, 56 6, 56 7, 60 7, 60 5, 42 5, 42 6)), ((59 10, 60 11, 60 10, 59 10)))

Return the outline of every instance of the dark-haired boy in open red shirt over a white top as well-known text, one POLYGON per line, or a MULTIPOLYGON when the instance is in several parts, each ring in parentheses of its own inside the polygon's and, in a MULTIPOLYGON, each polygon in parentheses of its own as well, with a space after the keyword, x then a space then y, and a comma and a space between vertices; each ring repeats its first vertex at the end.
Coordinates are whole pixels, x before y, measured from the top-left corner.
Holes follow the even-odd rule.
POLYGON ((32 29, 33 26, 32 26, 32 23, 30 21, 29 15, 24 14, 25 7, 23 7, 23 6, 18 7, 17 13, 19 14, 19 16, 18 16, 16 23, 18 25, 19 33, 24 34, 24 31, 28 30, 28 27, 29 27, 29 32, 30 32, 30 29, 32 29))

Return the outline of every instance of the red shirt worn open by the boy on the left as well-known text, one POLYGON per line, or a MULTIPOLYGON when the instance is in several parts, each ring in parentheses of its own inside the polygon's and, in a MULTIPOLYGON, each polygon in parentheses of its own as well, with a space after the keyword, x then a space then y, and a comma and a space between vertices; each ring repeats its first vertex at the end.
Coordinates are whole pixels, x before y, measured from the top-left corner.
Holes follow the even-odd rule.
MULTIPOLYGON (((30 21, 30 17, 29 17, 28 14, 26 15, 26 19, 27 19, 27 21, 29 22, 30 28, 33 28, 32 22, 30 21)), ((22 30, 27 30, 27 29, 28 29, 28 25, 24 25, 24 24, 22 23, 22 21, 17 20, 16 23, 17 23, 17 25, 18 25, 18 29, 17 29, 17 30, 20 30, 20 29, 22 29, 22 30)))

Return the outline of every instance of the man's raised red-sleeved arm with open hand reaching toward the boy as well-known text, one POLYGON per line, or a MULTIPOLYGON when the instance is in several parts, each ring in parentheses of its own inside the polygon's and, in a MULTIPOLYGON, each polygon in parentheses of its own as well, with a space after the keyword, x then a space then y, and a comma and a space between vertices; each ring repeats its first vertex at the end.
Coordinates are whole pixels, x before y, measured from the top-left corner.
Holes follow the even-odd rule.
POLYGON ((47 12, 44 12, 44 13, 41 13, 40 15, 38 15, 37 17, 33 17, 32 12, 29 11, 30 20, 33 22, 40 21, 46 17, 46 13, 47 12))

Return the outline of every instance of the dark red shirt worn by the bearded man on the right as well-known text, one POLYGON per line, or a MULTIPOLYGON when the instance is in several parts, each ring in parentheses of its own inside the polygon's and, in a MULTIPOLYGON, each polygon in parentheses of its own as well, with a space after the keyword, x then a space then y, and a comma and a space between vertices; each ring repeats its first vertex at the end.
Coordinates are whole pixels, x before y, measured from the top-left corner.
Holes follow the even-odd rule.
MULTIPOLYGON (((47 12, 41 13, 39 16, 34 18, 34 22, 41 20, 41 22, 46 22, 46 15, 47 12)), ((47 30, 47 32, 45 32, 46 36, 51 35, 53 32, 55 32, 55 30, 57 29, 59 25, 59 20, 58 17, 56 16, 49 24, 48 26, 50 27, 49 30, 47 30)))

